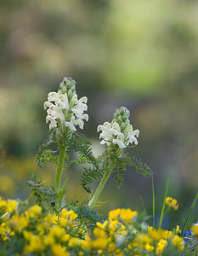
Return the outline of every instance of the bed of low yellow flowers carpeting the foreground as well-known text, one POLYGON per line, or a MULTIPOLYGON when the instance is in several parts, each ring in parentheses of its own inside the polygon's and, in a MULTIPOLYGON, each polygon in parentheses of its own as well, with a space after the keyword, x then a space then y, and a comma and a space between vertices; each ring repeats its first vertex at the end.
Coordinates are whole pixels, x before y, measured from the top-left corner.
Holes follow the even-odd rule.
POLYGON ((150 226, 141 230, 138 212, 131 209, 110 211, 105 222, 97 222, 93 229, 85 229, 76 212, 65 208, 59 217, 42 212, 37 205, 20 213, 17 201, 0 200, 0 212, 0 243, 13 247, 12 241, 20 241, 13 247, 14 255, 161 255, 168 244, 173 253, 184 250, 178 232, 150 226), (8 216, 2 218, 6 211, 8 216))

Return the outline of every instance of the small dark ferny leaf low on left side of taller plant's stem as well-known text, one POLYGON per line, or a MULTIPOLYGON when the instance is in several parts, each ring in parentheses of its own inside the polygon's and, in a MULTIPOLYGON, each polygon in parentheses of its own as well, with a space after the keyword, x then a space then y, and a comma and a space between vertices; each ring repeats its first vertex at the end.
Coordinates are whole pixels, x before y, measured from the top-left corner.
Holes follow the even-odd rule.
POLYGON ((52 187, 44 186, 41 182, 37 182, 31 178, 25 178, 23 182, 32 189, 37 196, 37 201, 45 201, 48 207, 54 207, 59 202, 59 196, 52 187))

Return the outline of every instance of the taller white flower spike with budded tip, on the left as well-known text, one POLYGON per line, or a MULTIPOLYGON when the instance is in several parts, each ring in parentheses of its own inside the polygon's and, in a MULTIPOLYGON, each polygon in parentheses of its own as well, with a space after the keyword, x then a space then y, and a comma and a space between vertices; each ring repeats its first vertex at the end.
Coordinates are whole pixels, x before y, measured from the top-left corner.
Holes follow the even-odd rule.
POLYGON ((48 102, 44 102, 44 108, 48 108, 49 130, 59 127, 63 133, 68 129, 76 131, 76 125, 83 129, 83 120, 88 121, 88 114, 84 113, 88 110, 87 102, 86 96, 77 99, 75 80, 64 78, 58 92, 49 92, 48 102))

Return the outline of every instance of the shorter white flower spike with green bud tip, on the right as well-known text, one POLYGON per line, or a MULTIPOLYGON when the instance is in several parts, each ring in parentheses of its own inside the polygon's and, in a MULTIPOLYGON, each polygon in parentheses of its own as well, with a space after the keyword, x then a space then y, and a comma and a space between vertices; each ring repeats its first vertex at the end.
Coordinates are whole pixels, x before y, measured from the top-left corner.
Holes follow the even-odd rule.
POLYGON ((110 148, 126 148, 129 143, 138 144, 139 130, 133 131, 129 121, 130 112, 127 108, 116 109, 114 119, 111 123, 105 122, 99 125, 97 131, 101 131, 99 138, 101 144, 107 144, 110 148))

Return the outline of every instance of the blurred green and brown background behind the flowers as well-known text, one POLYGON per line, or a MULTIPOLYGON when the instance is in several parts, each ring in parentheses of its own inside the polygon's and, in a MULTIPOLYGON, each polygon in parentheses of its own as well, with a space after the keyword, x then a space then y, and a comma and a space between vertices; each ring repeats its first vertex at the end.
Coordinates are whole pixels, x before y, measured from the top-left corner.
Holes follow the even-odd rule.
MULTIPOLYGON (((166 223, 184 224, 198 188, 198 2, 195 0, 59 0, 0 3, 0 195, 25 199, 23 177, 47 137, 42 104, 65 76, 88 96, 84 133, 99 154, 97 125, 116 108, 131 111, 139 145, 129 150, 154 172, 156 212, 171 173, 168 195, 178 212, 166 223)), ((67 171, 66 201, 80 200, 81 166, 67 171)), ((50 184, 54 167, 46 166, 50 184)), ((151 214, 151 179, 127 170, 117 190, 108 181, 99 207, 146 208, 151 214)), ((197 218, 198 207, 191 221, 197 218)))

